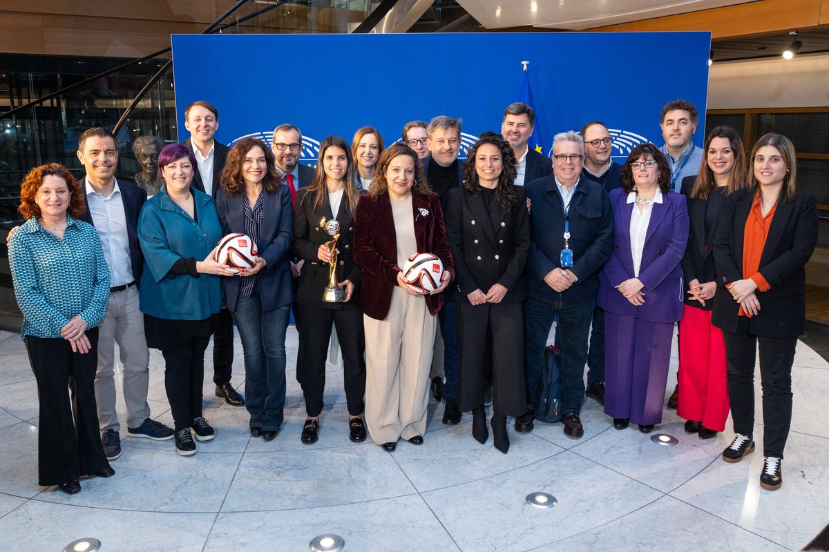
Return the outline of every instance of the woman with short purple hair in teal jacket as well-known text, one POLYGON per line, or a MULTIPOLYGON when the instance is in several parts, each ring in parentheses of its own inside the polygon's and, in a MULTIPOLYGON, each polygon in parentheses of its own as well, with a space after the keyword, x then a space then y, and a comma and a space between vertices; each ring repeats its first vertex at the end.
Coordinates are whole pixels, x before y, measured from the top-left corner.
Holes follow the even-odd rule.
POLYGON ((201 415, 204 356, 221 310, 219 276, 235 274, 213 260, 221 225, 214 199, 191 186, 195 167, 187 147, 166 146, 158 156, 162 188, 138 218, 144 328, 148 346, 164 356, 164 386, 182 456, 196 454, 191 428, 196 440, 215 436, 201 415))

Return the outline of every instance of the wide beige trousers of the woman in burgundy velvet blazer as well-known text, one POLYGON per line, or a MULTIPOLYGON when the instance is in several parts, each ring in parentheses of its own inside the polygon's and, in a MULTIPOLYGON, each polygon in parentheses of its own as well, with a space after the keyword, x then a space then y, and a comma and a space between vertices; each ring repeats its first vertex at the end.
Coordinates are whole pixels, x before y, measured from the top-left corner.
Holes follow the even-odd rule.
POLYGON ((366 329, 366 425, 376 444, 426 431, 429 367, 437 321, 423 297, 396 287, 385 320, 363 315, 366 329))

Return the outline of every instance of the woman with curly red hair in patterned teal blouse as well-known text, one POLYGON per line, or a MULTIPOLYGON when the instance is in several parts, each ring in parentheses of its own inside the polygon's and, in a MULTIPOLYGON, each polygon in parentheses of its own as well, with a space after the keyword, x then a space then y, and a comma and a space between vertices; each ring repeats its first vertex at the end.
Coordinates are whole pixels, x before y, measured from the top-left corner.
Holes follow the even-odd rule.
POLYGON ((98 233, 76 220, 80 185, 65 166, 32 169, 21 184, 27 218, 8 244, 14 293, 40 396, 38 483, 80 492, 80 478, 109 478, 98 433, 98 325, 109 303, 109 268, 98 233), (72 397, 67 389, 71 389, 72 397))

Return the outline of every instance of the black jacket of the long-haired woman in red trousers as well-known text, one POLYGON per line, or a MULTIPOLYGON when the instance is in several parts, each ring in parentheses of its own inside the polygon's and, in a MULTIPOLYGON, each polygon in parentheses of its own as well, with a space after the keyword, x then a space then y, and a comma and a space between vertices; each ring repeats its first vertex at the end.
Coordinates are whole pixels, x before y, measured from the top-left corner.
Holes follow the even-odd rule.
POLYGON ((688 235, 688 245, 685 255, 682 256, 682 273, 685 276, 685 304, 697 309, 711 310, 714 300, 706 300, 705 306, 688 295, 688 282, 698 280, 701 284, 716 280, 714 266, 714 236, 717 226, 722 220, 722 210, 725 208, 725 195, 712 191, 708 199, 691 199, 691 190, 694 189, 696 176, 686 176, 682 179, 681 193, 688 202, 688 219, 691 223, 691 233, 688 235), (710 211, 714 216, 713 228, 708 231, 708 240, 705 241, 705 213, 710 211))

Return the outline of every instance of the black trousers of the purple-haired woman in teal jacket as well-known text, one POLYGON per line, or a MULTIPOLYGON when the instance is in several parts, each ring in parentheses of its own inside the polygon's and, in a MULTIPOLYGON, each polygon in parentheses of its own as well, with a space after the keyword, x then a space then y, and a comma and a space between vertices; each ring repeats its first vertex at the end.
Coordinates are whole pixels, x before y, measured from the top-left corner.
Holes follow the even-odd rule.
POLYGON ((209 337, 194 337, 176 348, 162 351, 164 388, 176 431, 190 427, 201 416, 201 387, 205 381, 205 350, 209 337))

